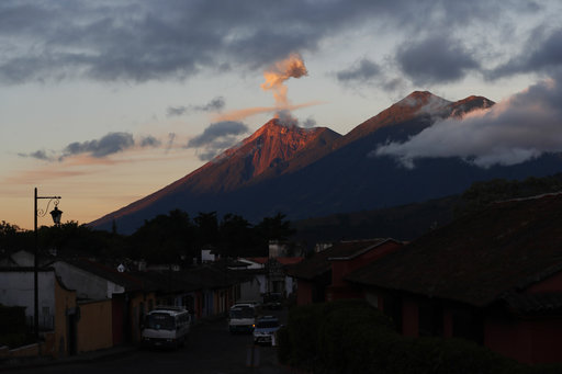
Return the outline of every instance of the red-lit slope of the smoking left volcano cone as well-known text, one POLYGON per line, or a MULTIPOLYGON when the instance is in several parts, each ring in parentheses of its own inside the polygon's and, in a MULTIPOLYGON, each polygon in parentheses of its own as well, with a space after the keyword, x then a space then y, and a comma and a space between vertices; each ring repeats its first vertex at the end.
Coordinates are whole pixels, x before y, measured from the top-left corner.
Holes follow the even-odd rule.
MULTIPOLYGON (((284 126, 278 118, 273 118, 238 146, 226 150, 188 175, 92 222, 90 225, 101 228, 108 227, 114 220, 119 222, 122 217, 134 215, 144 209, 157 214, 168 213, 175 208, 176 205, 173 204, 181 207, 189 201, 189 199, 172 197, 170 208, 159 209, 155 207, 161 205, 162 201, 169 201, 170 196, 223 194, 258 180, 263 181, 274 178, 285 172, 285 169, 294 169, 293 163, 304 166, 314 162, 329 152, 333 143, 340 137, 341 135, 326 127, 284 126)), ((125 226, 131 227, 131 225, 125 226)), ((136 225, 134 226, 136 227, 136 225)))

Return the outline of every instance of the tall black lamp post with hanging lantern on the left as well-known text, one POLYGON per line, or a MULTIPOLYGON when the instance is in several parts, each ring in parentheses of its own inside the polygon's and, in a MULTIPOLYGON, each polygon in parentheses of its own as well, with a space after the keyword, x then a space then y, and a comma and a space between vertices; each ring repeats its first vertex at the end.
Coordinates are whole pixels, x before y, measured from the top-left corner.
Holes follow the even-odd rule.
POLYGON ((33 218, 34 218, 34 225, 33 225, 33 233, 35 236, 35 256, 33 259, 33 328, 35 332, 35 338, 38 340, 40 337, 40 291, 38 291, 38 252, 40 252, 40 245, 38 245, 38 236, 37 236, 37 218, 44 217, 47 214, 48 206, 50 205, 50 202, 54 201, 55 208, 50 211, 50 215, 53 216, 53 222, 56 226, 60 225, 60 217, 63 216, 63 211, 58 209, 58 201, 60 200, 60 196, 37 196, 37 188, 35 188, 35 194, 34 194, 34 211, 33 211, 33 218), (37 209, 37 200, 40 199, 47 199, 47 207, 45 209, 37 209))

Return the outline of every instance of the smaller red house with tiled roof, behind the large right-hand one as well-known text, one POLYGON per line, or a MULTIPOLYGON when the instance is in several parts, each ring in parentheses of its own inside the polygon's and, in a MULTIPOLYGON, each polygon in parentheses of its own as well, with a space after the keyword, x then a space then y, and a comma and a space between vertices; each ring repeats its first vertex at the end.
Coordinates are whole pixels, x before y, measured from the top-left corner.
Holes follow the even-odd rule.
POLYGON ((340 241, 288 268, 288 274, 296 279, 296 304, 360 297, 345 276, 400 247, 402 242, 394 239, 340 241))

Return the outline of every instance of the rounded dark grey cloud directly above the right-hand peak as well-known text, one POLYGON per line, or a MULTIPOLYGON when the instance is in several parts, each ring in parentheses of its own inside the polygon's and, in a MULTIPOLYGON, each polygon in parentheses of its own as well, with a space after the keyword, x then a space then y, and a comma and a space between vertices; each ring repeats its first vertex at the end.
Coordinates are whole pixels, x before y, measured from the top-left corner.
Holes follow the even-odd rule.
POLYGON ((447 83, 460 80, 480 65, 460 41, 436 35, 407 42, 398 48, 400 68, 415 84, 447 83))

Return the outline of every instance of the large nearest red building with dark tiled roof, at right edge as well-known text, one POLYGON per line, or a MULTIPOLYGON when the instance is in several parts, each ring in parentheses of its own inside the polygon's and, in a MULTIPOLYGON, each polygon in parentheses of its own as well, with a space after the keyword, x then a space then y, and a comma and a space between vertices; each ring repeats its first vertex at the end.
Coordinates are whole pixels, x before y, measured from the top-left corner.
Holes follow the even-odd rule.
POLYGON ((562 361, 562 194, 495 203, 346 276, 406 336, 562 361))

